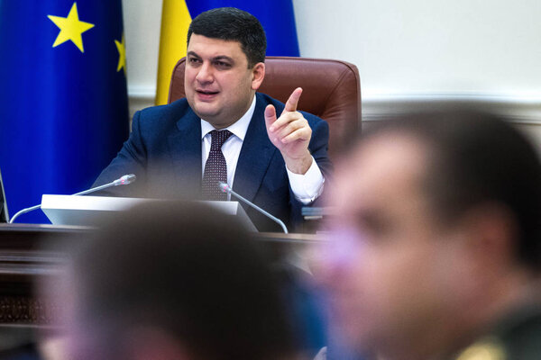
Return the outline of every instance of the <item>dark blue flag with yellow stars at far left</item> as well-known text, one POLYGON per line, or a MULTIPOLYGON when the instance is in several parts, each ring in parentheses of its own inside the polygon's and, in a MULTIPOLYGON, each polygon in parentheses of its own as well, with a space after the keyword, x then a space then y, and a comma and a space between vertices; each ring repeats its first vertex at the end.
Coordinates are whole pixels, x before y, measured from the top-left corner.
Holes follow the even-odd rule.
MULTIPOLYGON (((0 169, 10 215, 89 187, 128 137, 121 0, 0 0, 0 169)), ((17 222, 49 222, 41 211, 17 222)))

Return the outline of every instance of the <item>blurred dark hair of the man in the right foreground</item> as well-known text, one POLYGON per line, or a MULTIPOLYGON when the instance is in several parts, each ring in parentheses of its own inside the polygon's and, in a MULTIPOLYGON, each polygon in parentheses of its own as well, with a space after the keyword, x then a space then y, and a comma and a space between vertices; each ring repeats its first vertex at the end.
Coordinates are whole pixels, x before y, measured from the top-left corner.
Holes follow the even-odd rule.
POLYGON ((382 121, 365 138, 385 133, 420 139, 429 152, 425 192, 445 221, 497 204, 518 227, 518 259, 541 270, 541 165, 535 148, 509 121, 455 110, 382 121))

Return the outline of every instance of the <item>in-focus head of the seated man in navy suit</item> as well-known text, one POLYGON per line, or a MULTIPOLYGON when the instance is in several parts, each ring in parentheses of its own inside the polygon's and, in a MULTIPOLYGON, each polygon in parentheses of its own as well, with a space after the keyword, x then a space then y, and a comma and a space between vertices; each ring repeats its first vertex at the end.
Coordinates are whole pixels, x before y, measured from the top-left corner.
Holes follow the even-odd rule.
POLYGON ((221 7, 197 15, 188 29, 184 87, 197 116, 216 129, 250 108, 265 75, 267 40, 252 14, 221 7))

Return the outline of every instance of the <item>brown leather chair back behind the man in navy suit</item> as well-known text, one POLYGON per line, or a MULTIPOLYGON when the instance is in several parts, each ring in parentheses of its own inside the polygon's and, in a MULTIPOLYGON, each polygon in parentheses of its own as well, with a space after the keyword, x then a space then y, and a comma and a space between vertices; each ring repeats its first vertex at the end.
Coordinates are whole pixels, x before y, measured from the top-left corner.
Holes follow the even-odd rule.
MULTIPOLYGON (((181 58, 171 76, 169 103, 185 96, 181 58)), ((361 130, 359 71, 345 61, 321 58, 267 57, 265 78, 258 90, 285 103, 296 87, 303 93, 298 110, 313 113, 329 124, 329 156, 335 158, 361 130)))

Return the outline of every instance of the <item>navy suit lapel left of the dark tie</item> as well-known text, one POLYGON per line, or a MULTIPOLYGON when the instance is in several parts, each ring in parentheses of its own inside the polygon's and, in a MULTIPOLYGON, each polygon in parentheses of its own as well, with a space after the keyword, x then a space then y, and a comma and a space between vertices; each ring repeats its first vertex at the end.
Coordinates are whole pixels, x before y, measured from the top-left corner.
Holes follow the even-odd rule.
POLYGON ((189 111, 177 121, 175 133, 168 138, 172 169, 182 186, 190 192, 201 189, 201 121, 197 115, 189 111), (192 188, 193 186, 193 188, 192 188))

